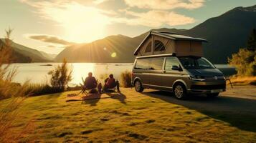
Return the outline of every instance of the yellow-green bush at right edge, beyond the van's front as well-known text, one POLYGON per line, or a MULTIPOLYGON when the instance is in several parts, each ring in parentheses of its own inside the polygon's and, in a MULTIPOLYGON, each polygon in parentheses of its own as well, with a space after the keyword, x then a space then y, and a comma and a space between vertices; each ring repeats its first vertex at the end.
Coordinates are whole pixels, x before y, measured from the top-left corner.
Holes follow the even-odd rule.
POLYGON ((232 58, 228 59, 228 62, 236 67, 237 76, 256 76, 256 51, 240 49, 237 54, 232 54, 232 58))

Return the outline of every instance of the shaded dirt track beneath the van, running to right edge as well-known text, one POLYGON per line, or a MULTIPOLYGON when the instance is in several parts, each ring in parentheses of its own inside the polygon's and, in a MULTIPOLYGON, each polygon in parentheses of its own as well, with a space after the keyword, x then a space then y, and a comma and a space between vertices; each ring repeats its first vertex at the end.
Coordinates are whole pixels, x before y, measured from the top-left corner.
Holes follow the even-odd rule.
POLYGON ((232 112, 242 114, 256 114, 256 87, 236 86, 233 89, 227 88, 217 98, 205 96, 193 96, 186 101, 175 99, 170 92, 153 91, 146 89, 143 94, 159 98, 165 102, 179 104, 189 109, 204 112, 232 112))

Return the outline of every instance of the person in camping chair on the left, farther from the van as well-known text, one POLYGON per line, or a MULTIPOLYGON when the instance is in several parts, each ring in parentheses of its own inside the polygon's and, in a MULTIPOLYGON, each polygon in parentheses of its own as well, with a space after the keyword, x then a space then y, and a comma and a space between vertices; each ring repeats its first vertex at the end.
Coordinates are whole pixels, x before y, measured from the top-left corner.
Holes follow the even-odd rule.
POLYGON ((90 90, 90 93, 94 93, 97 92, 97 90, 95 89, 97 87, 97 81, 95 79, 95 77, 93 77, 93 73, 89 72, 88 73, 88 77, 86 77, 85 81, 83 81, 83 85, 82 85, 82 91, 80 93, 85 93, 87 94, 86 90, 90 90))

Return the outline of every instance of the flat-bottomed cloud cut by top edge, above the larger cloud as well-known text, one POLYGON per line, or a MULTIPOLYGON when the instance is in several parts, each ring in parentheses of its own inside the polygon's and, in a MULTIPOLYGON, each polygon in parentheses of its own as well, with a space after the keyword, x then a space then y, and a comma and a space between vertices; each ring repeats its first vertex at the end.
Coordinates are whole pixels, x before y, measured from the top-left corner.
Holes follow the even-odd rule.
POLYGON ((204 6, 204 0, 124 0, 125 4, 141 9, 198 9, 204 6))

